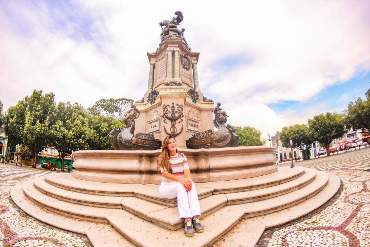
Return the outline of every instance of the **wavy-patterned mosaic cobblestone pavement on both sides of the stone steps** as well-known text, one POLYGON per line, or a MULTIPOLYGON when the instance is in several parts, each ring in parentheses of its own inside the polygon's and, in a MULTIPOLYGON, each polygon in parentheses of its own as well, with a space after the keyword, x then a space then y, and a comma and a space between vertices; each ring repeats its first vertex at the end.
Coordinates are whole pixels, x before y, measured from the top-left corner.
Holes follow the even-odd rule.
MULTIPOLYGON (((336 196, 305 217, 266 229, 256 246, 370 246, 370 148, 300 161, 295 165, 333 173, 340 177, 342 186, 336 196)), ((55 171, 14 164, 0 164, 0 169, 0 246, 92 246, 86 236, 48 226, 27 216, 9 196, 15 184, 55 171)), ((243 221, 213 246, 228 246, 228 237, 240 224, 243 221)))

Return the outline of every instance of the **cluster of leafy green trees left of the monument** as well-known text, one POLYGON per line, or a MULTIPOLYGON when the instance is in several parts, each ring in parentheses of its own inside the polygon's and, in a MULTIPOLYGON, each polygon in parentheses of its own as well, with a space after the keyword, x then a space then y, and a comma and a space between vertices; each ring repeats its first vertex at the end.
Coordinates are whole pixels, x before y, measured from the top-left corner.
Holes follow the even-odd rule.
MULTIPOLYGON (((89 110, 79 103, 59 102, 54 94, 43 94, 34 90, 30 96, 10 106, 4 116, 1 111, 0 124, 11 143, 19 144, 17 155, 33 158, 36 167, 38 153, 47 147, 55 147, 61 164, 72 151, 81 149, 112 149, 108 140, 113 128, 124 128, 121 119, 133 102, 132 99, 101 99, 89 110)), ((61 167, 64 170, 64 166, 61 167)))

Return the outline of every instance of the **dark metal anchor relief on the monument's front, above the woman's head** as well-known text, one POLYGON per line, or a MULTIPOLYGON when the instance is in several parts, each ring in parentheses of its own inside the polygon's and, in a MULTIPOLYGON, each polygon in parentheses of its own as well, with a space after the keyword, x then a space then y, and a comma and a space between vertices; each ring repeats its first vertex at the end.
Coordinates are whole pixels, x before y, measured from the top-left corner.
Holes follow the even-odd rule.
POLYGON ((178 123, 182 122, 182 118, 184 117, 182 110, 184 109, 184 106, 182 104, 176 104, 175 106, 175 103, 172 102, 172 106, 170 106, 169 104, 167 105, 163 104, 162 109, 163 109, 162 117, 164 118, 163 123, 168 123, 166 120, 171 121, 171 128, 169 129, 170 133, 167 131, 166 126, 163 126, 164 131, 173 137, 177 136, 178 134, 181 133, 182 129, 184 128, 184 125, 181 124, 181 130, 177 132, 176 121, 179 120, 178 123))

